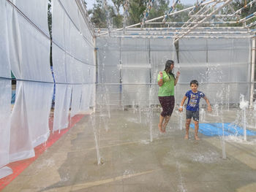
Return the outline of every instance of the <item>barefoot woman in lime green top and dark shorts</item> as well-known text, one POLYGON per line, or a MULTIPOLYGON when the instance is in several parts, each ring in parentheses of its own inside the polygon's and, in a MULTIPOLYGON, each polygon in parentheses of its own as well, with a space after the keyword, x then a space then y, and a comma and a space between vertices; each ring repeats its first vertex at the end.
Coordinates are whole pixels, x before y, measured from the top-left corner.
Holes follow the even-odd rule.
POLYGON ((176 77, 173 74, 174 62, 167 60, 165 63, 165 70, 159 72, 157 82, 159 85, 158 99, 162 106, 162 112, 159 118, 158 128, 159 131, 164 133, 167 123, 170 120, 170 115, 173 113, 174 108, 174 86, 178 82, 180 72, 177 72, 176 77))

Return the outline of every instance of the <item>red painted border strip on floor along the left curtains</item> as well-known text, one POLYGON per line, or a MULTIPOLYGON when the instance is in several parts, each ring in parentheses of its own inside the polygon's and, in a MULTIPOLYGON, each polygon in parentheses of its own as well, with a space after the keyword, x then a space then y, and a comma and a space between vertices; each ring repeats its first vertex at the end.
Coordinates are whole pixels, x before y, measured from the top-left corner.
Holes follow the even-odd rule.
POLYGON ((34 148, 35 156, 33 158, 28 158, 22 161, 15 161, 13 163, 8 164, 12 169, 12 174, 8 175, 7 177, 1 178, 0 179, 0 191, 5 188, 9 183, 12 182, 12 180, 15 179, 21 172, 23 172, 26 167, 28 167, 33 161, 35 161, 39 155, 45 152, 53 143, 59 140, 62 135, 67 133, 70 128, 75 126, 75 123, 78 123, 85 115, 75 115, 74 117, 71 118, 71 122, 69 122, 69 126, 67 128, 61 129, 60 133, 59 131, 54 131, 53 132, 53 115, 50 115, 49 118, 49 128, 50 128, 50 136, 48 138, 48 141, 46 143, 43 143, 41 145, 38 145, 37 147, 34 148))

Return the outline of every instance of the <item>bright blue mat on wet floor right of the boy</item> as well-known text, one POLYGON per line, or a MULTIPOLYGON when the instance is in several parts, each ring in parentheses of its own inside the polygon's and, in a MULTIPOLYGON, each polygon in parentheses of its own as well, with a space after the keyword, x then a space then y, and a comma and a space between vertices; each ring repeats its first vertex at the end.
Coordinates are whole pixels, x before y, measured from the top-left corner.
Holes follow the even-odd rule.
MULTIPOLYGON (((199 123, 199 132, 208 137, 222 136, 222 126, 224 127, 225 136, 244 136, 244 128, 231 123, 199 123)), ((195 124, 191 123, 190 127, 195 128, 195 124)), ((254 136, 256 131, 246 130, 246 135, 254 136)))

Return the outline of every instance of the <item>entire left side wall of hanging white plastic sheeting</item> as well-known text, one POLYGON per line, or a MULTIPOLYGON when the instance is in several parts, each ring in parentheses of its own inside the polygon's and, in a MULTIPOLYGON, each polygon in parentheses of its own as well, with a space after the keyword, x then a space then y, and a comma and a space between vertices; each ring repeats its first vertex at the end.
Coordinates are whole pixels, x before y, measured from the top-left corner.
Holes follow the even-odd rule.
MULTIPOLYGON (((58 9, 59 2, 53 2, 53 69, 56 82, 67 84, 56 85, 53 131, 68 126, 70 107, 71 116, 89 110, 94 104, 95 86, 90 29, 78 4, 62 2, 66 12, 61 6, 58 9)), ((47 141, 54 84, 50 70, 48 1, 1 0, 0 16, 1 178, 12 173, 7 164, 34 157, 34 147, 47 141), (11 70, 18 80, 13 108, 11 70)))

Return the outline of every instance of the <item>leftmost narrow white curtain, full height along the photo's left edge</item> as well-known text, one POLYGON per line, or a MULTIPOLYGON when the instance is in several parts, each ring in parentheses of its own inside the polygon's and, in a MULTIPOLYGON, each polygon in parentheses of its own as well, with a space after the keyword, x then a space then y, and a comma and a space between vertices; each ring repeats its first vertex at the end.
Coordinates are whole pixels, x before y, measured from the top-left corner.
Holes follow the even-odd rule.
MULTIPOLYGON (((7 32, 7 2, 0 1, 0 77, 10 78, 10 59, 7 32)), ((12 174, 9 164, 11 80, 0 79, 0 179, 12 174)))

